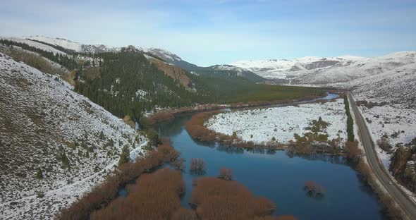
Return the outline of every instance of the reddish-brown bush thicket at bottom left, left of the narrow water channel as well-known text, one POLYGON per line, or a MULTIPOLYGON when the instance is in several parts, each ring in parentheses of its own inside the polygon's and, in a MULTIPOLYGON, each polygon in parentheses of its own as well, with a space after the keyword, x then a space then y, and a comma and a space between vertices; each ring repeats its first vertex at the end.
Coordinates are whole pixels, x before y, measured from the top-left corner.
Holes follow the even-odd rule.
POLYGON ((140 176, 127 197, 93 212, 91 219, 170 219, 181 207, 184 192, 185 182, 180 171, 160 169, 140 176))

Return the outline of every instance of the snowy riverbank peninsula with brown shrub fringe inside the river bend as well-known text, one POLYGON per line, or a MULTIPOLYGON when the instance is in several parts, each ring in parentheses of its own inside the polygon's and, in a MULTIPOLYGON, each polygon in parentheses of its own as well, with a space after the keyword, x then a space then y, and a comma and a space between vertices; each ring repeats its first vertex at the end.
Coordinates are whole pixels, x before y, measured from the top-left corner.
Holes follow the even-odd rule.
POLYGON ((338 94, 327 97, 262 109, 206 111, 192 116, 185 128, 195 140, 221 145, 342 155, 347 139, 344 104, 335 99, 338 94))

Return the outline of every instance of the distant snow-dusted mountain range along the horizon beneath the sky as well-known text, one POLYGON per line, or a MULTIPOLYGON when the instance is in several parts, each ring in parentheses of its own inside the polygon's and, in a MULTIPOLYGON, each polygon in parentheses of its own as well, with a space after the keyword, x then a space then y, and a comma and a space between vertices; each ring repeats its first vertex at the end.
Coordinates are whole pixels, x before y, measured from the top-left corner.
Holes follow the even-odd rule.
MULTIPOLYGON (((3 37, 4 38, 4 37, 3 37)), ((11 39, 11 38, 8 38, 11 39)), ((62 47, 69 51, 78 53, 100 53, 105 51, 120 51, 121 47, 107 47, 102 44, 80 44, 68 39, 51 38, 43 36, 31 36, 13 38, 33 47, 45 49, 45 44, 62 47), (28 40, 30 39, 30 40, 28 40)), ((129 48, 133 46, 128 46, 129 48)), ((378 75, 395 68, 416 62, 416 51, 403 51, 366 58, 361 56, 338 56, 338 57, 317 57, 307 56, 299 59, 269 59, 259 61, 235 61, 229 64, 214 66, 197 66, 184 61, 177 54, 159 48, 133 47, 143 51, 145 54, 160 59, 166 63, 183 68, 195 75, 221 75, 223 77, 243 77, 253 82, 284 83, 293 85, 324 85, 337 82, 348 82, 359 78, 378 75)), ((49 48, 54 53, 64 51, 56 50, 56 47, 49 48)))

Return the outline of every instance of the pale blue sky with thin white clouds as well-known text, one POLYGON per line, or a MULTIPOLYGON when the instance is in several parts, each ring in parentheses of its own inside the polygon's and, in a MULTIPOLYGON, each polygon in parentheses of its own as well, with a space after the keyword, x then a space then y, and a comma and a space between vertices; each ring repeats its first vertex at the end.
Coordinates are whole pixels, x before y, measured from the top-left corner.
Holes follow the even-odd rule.
POLYGON ((200 66, 416 50, 415 0, 1 1, 1 36, 158 47, 200 66))

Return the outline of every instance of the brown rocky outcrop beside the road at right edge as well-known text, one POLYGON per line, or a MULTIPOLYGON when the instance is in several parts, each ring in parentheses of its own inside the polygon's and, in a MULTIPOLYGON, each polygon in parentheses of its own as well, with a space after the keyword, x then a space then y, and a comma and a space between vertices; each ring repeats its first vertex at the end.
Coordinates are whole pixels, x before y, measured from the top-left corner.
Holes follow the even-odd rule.
POLYGON ((398 147, 391 157, 389 171, 405 188, 416 192, 416 152, 409 147, 398 147))

